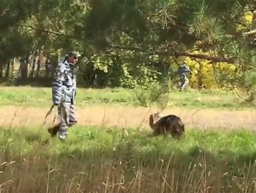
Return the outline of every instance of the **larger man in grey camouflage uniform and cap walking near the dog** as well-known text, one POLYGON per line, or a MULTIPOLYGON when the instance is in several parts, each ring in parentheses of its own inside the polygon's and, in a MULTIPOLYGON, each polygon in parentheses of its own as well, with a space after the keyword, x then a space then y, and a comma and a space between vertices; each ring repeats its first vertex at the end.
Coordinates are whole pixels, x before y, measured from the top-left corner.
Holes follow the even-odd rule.
POLYGON ((71 51, 61 62, 55 71, 52 83, 52 100, 58 106, 60 123, 48 132, 55 136, 58 132, 59 139, 67 138, 68 127, 77 123, 75 118, 74 100, 76 96, 76 67, 75 64, 81 55, 77 51, 71 51))

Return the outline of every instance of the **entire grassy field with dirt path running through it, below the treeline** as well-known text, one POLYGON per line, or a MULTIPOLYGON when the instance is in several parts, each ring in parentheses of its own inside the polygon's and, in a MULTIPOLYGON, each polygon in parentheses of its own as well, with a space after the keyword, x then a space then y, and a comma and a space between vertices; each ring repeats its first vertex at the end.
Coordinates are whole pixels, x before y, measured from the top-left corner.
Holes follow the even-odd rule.
POLYGON ((151 136, 158 108, 133 91, 79 89, 79 125, 63 143, 40 127, 50 89, 0 90, 0 192, 256 191, 255 110, 232 93, 173 92, 162 114, 186 123, 176 141, 151 136))

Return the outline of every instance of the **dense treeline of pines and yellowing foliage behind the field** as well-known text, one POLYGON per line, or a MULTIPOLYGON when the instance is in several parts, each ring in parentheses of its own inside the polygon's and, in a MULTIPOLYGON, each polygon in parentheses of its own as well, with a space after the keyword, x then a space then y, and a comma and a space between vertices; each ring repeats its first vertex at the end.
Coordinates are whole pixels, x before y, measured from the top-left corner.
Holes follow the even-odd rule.
POLYGON ((255 0, 1 1, 0 79, 49 86, 75 49, 83 87, 175 86, 186 60, 192 88, 252 93, 254 34, 255 0))

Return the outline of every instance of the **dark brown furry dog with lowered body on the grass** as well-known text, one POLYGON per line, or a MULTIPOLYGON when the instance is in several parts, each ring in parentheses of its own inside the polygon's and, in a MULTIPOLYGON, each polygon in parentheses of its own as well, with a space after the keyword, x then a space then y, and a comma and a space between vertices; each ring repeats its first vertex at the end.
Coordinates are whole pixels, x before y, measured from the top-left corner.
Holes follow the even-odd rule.
POLYGON ((176 115, 160 117, 159 113, 151 114, 149 116, 149 126, 153 129, 154 135, 170 134, 173 137, 180 138, 185 132, 185 124, 176 115))

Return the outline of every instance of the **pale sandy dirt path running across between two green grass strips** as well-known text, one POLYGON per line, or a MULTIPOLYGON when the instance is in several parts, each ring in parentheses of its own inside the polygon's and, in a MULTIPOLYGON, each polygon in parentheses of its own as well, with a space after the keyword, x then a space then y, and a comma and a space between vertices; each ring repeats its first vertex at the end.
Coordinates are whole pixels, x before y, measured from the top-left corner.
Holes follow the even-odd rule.
MULTIPOLYGON (((39 126, 47 113, 48 108, 37 107, 0 107, 0 125, 5 126, 39 126), (14 116, 15 114, 15 116, 14 116)), ((123 107, 113 105, 108 107, 91 106, 76 108, 76 114, 81 125, 100 125, 119 126, 119 127, 138 127, 149 128, 148 116, 156 112, 155 108, 144 107, 123 107)), ((53 124, 54 114, 48 118, 47 125, 53 124)), ((179 115, 186 127, 191 128, 247 128, 256 129, 256 111, 223 111, 223 110, 187 110, 181 108, 167 108, 161 115, 179 115)))

